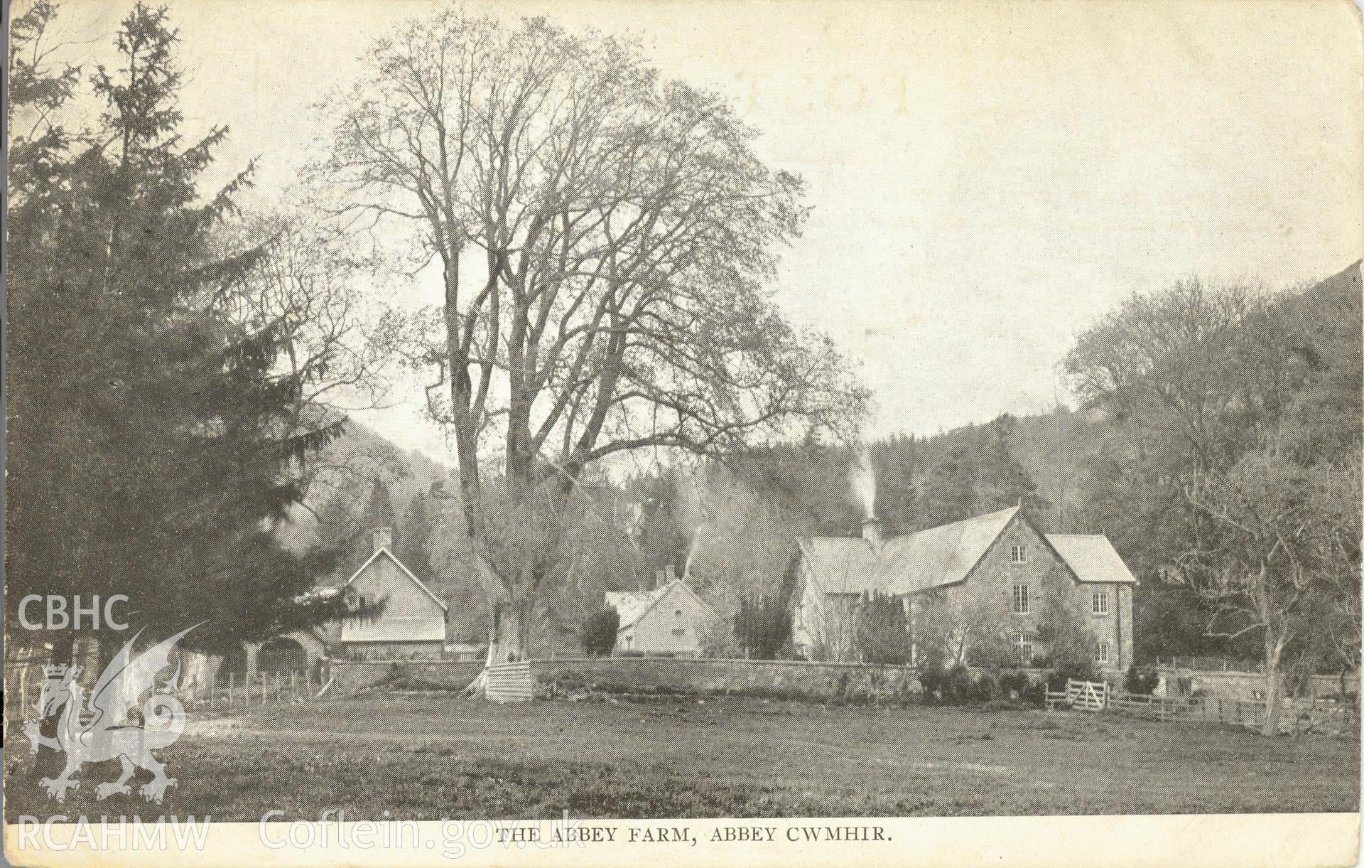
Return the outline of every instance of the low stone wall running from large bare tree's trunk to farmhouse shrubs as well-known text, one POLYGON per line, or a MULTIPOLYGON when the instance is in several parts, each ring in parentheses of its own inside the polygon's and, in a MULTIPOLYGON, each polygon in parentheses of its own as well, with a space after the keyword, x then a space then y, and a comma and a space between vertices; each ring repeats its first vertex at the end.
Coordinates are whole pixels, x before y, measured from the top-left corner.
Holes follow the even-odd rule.
POLYGON ((790 699, 907 696, 921 692, 913 666, 873 663, 597 656, 531 661, 531 671, 542 693, 550 692, 554 685, 790 699))

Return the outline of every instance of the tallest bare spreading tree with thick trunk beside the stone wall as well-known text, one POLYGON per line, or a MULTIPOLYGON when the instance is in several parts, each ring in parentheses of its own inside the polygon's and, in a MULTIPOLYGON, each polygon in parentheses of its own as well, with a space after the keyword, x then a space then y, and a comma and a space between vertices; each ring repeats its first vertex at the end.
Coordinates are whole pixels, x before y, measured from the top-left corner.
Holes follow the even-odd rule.
POLYGON ((544 19, 443 11, 366 60, 323 105, 321 201, 352 227, 415 231, 439 265, 443 306, 413 356, 436 373, 465 524, 501 580, 490 659, 506 659, 587 468, 847 426, 863 394, 769 299, 801 183, 716 97, 544 19), (535 539, 495 539, 490 497, 535 539))

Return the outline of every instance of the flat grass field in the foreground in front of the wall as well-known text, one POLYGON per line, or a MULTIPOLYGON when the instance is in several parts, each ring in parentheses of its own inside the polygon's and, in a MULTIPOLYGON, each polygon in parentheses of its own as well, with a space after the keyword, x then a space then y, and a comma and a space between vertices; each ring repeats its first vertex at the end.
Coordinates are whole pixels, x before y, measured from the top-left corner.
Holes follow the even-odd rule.
MULTIPOLYGON (((11 733, 18 736, 18 733, 11 733)), ((5 740, 7 819, 59 809, 5 740)), ((754 699, 662 704, 367 696, 192 715, 164 805, 60 812, 318 819, 922 816, 1357 811, 1353 740, 1200 723, 754 699)), ((138 781, 147 775, 142 772, 138 781)), ((134 790, 135 792, 135 790, 134 790)))

